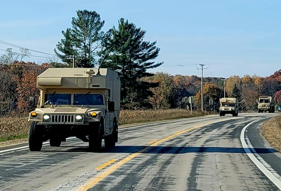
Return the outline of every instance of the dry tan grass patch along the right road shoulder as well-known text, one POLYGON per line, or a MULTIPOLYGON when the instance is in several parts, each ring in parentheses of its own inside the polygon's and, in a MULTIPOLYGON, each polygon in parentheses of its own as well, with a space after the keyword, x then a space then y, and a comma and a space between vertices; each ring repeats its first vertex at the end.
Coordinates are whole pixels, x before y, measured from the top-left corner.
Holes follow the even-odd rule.
POLYGON ((272 147, 281 151, 281 116, 268 120, 262 124, 261 133, 272 147))

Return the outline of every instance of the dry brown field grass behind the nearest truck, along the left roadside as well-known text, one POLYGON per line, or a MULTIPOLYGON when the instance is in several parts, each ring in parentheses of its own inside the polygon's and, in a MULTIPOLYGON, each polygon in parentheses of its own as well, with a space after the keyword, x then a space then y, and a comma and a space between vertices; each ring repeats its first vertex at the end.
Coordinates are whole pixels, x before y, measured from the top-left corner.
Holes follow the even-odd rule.
MULTIPOLYGON (((119 124, 144 123, 180 118, 189 118, 194 116, 202 116, 200 112, 192 114, 185 109, 167 109, 167 110, 139 110, 129 111, 122 110, 120 112, 119 124)), ((0 141, 27 137, 29 122, 28 115, 3 116, 0 117, 0 141)))

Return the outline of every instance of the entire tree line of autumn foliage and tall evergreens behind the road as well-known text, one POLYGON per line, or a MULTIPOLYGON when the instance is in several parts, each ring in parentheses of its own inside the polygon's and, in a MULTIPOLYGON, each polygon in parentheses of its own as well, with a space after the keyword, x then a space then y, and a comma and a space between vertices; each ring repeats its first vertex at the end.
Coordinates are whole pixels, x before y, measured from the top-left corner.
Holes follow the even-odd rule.
MULTIPOLYGON (((76 68, 110 68, 121 80, 122 109, 201 109, 201 78, 198 76, 170 75, 147 72, 157 68, 163 62, 154 60, 160 52, 156 41, 145 41, 145 30, 119 19, 118 26, 102 31, 105 21, 95 11, 78 10, 72 18, 71 28, 62 31, 64 36, 54 49, 58 59, 48 59, 46 63, 23 62, 30 52, 22 49, 21 54, 7 53, 0 57, 0 63, 18 65, 0 65, 0 106, 1 113, 11 111, 27 112, 30 96, 38 96, 36 76, 49 67, 72 67, 72 58, 76 68), (194 102, 189 103, 189 97, 194 102)), ((224 78, 203 79, 204 110, 215 110, 219 98, 223 97, 224 78), (213 102, 210 104, 210 100, 213 102)), ((256 75, 230 76, 226 82, 226 96, 236 97, 240 102, 239 110, 256 109, 255 100, 260 95, 275 96, 281 102, 281 70, 269 77, 256 75)))

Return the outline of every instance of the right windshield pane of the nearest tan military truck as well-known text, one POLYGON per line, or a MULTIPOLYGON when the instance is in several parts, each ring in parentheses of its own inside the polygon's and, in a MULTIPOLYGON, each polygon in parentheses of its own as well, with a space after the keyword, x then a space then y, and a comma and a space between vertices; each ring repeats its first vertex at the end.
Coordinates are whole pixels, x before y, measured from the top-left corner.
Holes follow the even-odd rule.
POLYGON ((73 105, 104 105, 103 96, 101 94, 74 94, 73 105), (83 97, 83 98, 82 98, 83 97), (82 99, 81 99, 82 98, 82 99))

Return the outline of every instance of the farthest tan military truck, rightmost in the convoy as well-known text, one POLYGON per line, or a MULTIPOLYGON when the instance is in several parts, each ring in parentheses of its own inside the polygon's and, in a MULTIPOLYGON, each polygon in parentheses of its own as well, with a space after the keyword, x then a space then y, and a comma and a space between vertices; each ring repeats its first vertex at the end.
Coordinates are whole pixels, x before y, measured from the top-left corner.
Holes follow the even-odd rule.
POLYGON ((275 112, 274 97, 273 96, 260 96, 257 100, 258 113, 268 111, 269 113, 275 112))

